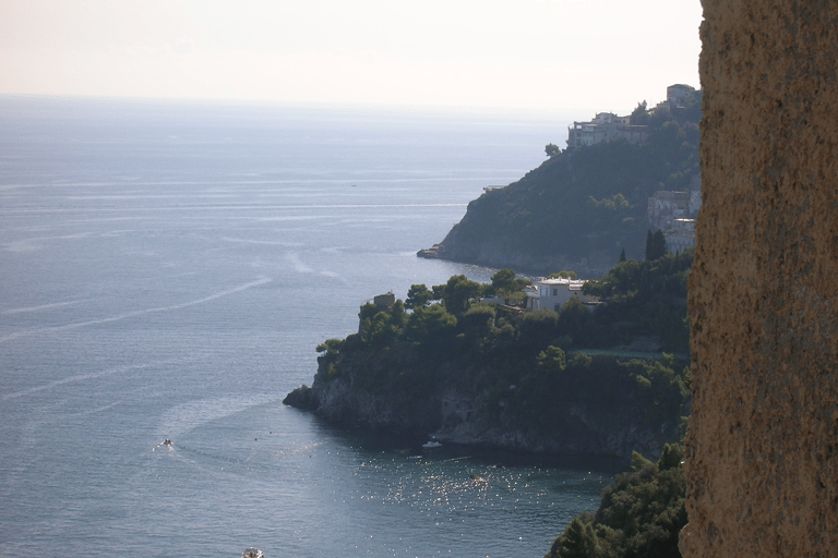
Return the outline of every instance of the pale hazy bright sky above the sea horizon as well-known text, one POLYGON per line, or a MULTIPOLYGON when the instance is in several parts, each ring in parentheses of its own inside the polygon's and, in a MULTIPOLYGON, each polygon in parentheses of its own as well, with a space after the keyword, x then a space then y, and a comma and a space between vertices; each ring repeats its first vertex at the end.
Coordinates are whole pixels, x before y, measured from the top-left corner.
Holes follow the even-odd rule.
POLYGON ((699 0, 0 0, 0 94, 597 108, 698 84, 699 0))

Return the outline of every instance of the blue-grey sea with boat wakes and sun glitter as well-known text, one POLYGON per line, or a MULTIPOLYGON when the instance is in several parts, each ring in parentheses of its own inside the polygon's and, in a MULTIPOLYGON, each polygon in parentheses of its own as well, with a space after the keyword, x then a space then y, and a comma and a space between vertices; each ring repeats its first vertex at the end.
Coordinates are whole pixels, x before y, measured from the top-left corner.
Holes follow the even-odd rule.
POLYGON ((0 96, 0 556, 543 556, 613 462, 282 400, 574 116, 0 96))

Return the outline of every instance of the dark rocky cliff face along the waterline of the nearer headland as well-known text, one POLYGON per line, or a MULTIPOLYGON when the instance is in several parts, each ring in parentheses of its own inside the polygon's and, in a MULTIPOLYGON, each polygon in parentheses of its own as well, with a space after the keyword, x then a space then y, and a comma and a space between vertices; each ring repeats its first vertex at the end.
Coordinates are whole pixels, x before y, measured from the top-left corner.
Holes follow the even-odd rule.
POLYGON ((468 383, 443 381, 439 389, 405 397, 395 388, 362 387, 359 374, 363 375, 368 365, 364 357, 358 357, 345 366, 340 377, 331 379, 321 365, 312 387, 295 390, 285 403, 313 411, 342 427, 535 453, 628 460, 632 451, 639 451, 657 458, 663 444, 679 434, 680 412, 649 421, 645 404, 624 389, 623 397, 611 401, 584 397, 573 402, 556 400, 550 422, 561 427, 544 428, 527 413, 531 405, 515 404, 514 387, 499 396, 468 383))

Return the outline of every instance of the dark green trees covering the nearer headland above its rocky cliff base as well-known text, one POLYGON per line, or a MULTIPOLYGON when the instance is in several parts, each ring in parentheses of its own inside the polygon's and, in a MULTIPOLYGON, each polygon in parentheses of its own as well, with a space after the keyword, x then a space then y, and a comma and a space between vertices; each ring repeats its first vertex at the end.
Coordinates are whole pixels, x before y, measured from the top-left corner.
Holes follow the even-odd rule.
MULTIPOLYGON (((390 308, 364 304, 357 333, 318 347, 315 384, 350 380, 355 389, 385 397, 424 432, 441 426, 429 402, 451 389, 483 395, 480 418, 487 424, 548 438, 578 436, 590 427, 578 405, 600 422, 619 424, 631 416, 641 427, 660 432, 669 424, 671 432, 689 398, 683 357, 620 357, 585 349, 646 330, 667 333, 654 324, 669 313, 678 314, 672 320, 682 326, 690 260, 666 255, 619 264, 591 287, 609 301, 595 311, 576 298, 560 312, 480 302, 486 294, 515 299, 526 281, 506 269, 492 284, 465 276, 431 288, 415 284, 406 301, 390 308)), ((672 347, 681 348, 674 337, 672 347)))

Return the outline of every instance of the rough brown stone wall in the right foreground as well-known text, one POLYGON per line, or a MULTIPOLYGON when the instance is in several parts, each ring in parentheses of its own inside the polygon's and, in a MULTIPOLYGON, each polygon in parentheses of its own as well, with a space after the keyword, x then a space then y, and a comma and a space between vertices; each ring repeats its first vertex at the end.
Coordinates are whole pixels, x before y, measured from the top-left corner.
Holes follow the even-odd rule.
POLYGON ((838 555, 838 2, 704 0, 686 557, 838 555))

